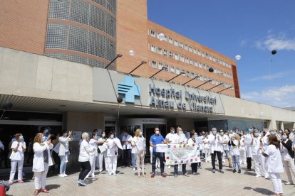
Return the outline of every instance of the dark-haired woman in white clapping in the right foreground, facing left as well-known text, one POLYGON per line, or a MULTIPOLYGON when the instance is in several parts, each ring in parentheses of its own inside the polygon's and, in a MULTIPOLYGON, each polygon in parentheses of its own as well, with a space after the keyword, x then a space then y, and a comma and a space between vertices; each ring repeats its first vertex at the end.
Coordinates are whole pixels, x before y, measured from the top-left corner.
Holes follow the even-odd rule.
POLYGON ((267 158, 267 171, 271 178, 272 185, 274 187, 274 193, 276 195, 283 195, 283 185, 281 184, 281 176, 279 173, 284 173, 283 163, 281 161, 281 154, 279 152, 279 140, 274 135, 268 136, 267 149, 260 146, 262 156, 267 158))

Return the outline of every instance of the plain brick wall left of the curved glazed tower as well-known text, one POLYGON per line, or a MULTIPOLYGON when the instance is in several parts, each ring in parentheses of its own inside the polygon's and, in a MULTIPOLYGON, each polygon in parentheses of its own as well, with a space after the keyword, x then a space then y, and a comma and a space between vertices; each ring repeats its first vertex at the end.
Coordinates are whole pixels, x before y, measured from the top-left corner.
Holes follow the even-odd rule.
POLYGON ((44 54, 48 0, 0 0, 0 46, 44 54))

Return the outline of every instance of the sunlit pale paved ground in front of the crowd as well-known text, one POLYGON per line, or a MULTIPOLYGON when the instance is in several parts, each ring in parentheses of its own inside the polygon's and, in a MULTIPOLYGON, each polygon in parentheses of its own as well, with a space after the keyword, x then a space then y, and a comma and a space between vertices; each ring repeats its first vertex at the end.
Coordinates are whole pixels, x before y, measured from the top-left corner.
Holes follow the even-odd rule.
MULTIPOLYGON (((145 164, 147 178, 138 178, 132 168, 118 168, 116 176, 108 176, 103 171, 93 180, 86 180, 86 187, 77 186, 78 173, 66 178, 53 176, 47 179, 48 194, 39 195, 271 195, 271 180, 254 178, 254 172, 232 173, 224 167, 224 174, 211 172, 211 164, 202 162, 200 175, 182 176, 179 168, 178 178, 173 177, 173 169, 165 167, 167 178, 160 176, 157 169, 155 178, 150 178, 151 165, 145 164)), ((190 166, 187 165, 191 174, 190 166)), ((286 180, 286 175, 281 176, 286 180)), ((294 185, 284 185, 284 195, 295 195, 294 185)), ((24 184, 15 183, 7 195, 33 195, 33 180, 24 184)))

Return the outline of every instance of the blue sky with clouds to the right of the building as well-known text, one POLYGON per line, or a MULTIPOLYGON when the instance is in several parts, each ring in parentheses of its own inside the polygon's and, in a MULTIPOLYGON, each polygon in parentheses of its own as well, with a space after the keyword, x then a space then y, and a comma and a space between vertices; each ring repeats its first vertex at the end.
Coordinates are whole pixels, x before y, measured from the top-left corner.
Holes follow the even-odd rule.
POLYGON ((295 107, 294 10, 293 0, 148 0, 150 21, 230 58, 241 55, 242 99, 276 107, 295 107))

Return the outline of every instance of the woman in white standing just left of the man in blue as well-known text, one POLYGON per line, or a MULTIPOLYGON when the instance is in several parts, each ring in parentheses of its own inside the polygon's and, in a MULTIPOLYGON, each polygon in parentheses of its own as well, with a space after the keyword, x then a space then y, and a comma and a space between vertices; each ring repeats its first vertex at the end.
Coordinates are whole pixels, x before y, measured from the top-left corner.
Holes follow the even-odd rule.
POLYGON ((140 168, 143 177, 145 177, 145 138, 140 129, 136 129, 134 137, 131 141, 132 153, 137 156, 136 164, 138 165, 138 178, 140 178, 140 168))

